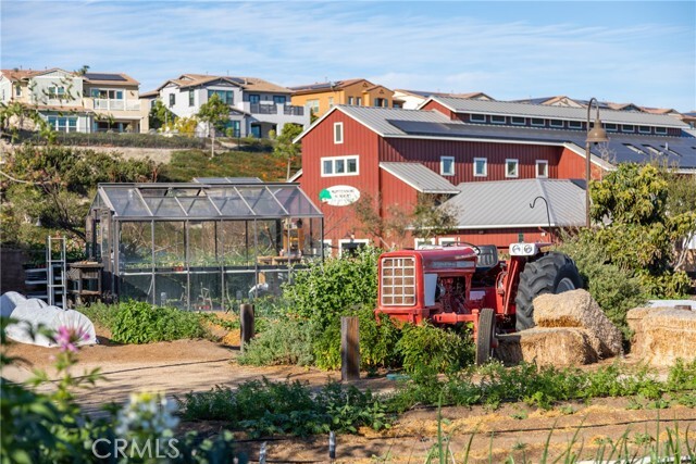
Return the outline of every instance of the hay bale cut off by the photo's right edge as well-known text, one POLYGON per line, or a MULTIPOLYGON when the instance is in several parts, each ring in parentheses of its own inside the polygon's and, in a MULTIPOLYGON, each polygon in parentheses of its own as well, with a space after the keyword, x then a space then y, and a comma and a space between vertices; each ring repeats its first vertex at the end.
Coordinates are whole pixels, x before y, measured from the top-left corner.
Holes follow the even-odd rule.
POLYGON ((670 366, 679 358, 687 362, 696 360, 696 311, 650 310, 629 312, 634 321, 643 315, 636 325, 634 354, 654 366, 670 366))

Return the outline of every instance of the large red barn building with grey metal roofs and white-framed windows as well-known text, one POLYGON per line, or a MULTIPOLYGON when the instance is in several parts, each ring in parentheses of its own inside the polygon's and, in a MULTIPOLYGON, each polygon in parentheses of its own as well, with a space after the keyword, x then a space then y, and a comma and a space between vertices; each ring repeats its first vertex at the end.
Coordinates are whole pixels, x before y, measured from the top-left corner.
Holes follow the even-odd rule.
MULTIPOLYGON (((294 179, 322 202, 325 239, 338 249, 374 239, 350 206, 363 196, 383 218, 395 208, 411 211, 419 195, 458 198, 459 229, 439 242, 506 248, 519 234, 548 241, 558 227, 584 224, 586 113, 452 97, 431 97, 421 110, 339 105, 298 136, 302 171, 294 179), (487 186, 471 190, 477 183, 487 186), (341 201, 328 201, 334 193, 341 201), (489 196, 496 198, 475 200, 489 196), (536 197, 548 205, 539 200, 530 208, 536 197), (519 214, 506 222, 489 211, 502 203, 517 205, 519 214)), ((696 137, 687 125, 659 114, 599 113, 610 140, 591 148, 593 178, 617 163, 654 159, 696 173, 696 137)), ((406 240, 402 246, 418 244, 415 237, 406 240)))

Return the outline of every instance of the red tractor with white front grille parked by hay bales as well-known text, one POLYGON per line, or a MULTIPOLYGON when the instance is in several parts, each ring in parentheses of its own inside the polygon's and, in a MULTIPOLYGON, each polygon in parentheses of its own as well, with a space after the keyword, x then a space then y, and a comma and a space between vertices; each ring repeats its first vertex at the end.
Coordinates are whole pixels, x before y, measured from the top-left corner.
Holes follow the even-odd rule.
POLYGON ((582 288, 573 260, 543 251, 548 246, 512 243, 508 262, 493 244, 383 253, 375 312, 412 324, 472 323, 476 364, 483 364, 497 346, 496 334, 534 326, 534 298, 582 288))

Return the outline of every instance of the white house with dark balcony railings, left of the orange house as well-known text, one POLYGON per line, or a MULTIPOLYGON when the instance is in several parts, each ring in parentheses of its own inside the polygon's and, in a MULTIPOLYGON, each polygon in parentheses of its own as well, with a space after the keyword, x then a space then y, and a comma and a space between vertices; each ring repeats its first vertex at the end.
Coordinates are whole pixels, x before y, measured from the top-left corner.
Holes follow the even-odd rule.
MULTIPOLYGON (((265 138, 271 130, 279 134, 288 123, 309 125, 309 113, 290 103, 289 89, 258 77, 182 74, 144 93, 144 99, 152 104, 159 98, 177 117, 191 117, 213 95, 229 105, 226 128, 235 137, 265 138)), ((207 125, 199 123, 197 131, 208 135, 207 125)))

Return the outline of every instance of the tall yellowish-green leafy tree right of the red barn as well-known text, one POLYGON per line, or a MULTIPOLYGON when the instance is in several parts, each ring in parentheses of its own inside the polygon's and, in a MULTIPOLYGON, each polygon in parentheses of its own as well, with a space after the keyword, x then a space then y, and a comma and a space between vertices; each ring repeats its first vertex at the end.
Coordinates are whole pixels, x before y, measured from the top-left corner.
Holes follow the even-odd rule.
POLYGON ((612 264, 635 272, 656 297, 687 290, 686 275, 673 272, 674 250, 696 229, 696 212, 669 211, 667 175, 651 164, 622 163, 591 183, 591 214, 599 225, 584 231, 612 264))

